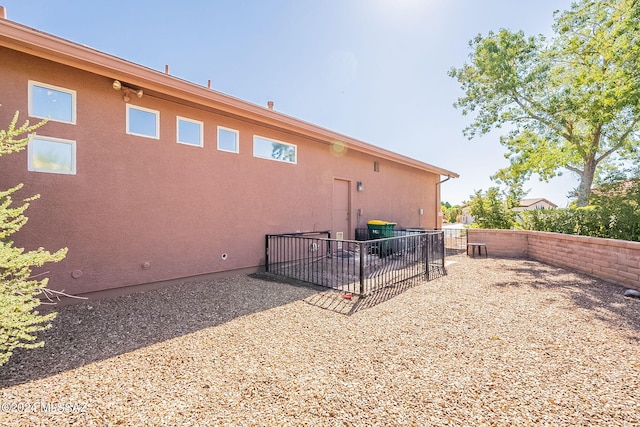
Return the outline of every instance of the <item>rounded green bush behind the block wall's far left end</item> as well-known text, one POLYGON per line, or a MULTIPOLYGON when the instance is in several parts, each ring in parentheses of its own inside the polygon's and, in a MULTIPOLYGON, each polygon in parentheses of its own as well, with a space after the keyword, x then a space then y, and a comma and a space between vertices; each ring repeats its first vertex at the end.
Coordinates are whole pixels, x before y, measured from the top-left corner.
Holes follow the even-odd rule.
POLYGON ((469 202, 471 215, 475 218, 471 227, 510 229, 515 224, 512 207, 508 198, 502 198, 498 187, 491 187, 484 194, 478 190, 469 202))

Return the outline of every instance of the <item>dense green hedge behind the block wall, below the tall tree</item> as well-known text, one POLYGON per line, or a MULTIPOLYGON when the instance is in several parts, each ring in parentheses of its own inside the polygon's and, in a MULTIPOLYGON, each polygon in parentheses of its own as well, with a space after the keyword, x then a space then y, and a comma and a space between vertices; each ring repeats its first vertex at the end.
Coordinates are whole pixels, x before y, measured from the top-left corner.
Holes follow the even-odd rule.
POLYGON ((526 230, 640 241, 640 179, 605 183, 583 208, 522 212, 526 230))

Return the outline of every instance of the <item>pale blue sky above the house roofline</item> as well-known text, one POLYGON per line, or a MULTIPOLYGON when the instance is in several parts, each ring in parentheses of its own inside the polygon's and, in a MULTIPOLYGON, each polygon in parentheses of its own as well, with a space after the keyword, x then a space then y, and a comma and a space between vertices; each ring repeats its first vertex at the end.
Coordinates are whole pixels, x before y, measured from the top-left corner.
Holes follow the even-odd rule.
MULTIPOLYGON (((7 17, 460 174, 457 204, 507 165, 494 132, 471 141, 447 76, 477 34, 552 35, 571 0, 0 0, 7 17)), ((526 188, 564 207, 569 173, 526 188)))

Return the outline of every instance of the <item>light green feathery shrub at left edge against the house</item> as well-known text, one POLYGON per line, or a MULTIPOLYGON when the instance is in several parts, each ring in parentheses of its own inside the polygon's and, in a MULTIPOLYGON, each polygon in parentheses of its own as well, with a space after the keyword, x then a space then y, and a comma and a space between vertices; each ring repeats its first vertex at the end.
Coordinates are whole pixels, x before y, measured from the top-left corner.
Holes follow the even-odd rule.
MULTIPOLYGON (((25 133, 33 132, 45 122, 16 128, 18 113, 13 117, 8 130, 0 131, 0 155, 17 152, 27 145, 25 133)), ((40 314, 39 296, 46 289, 46 278, 31 275, 33 267, 63 259, 67 249, 50 253, 43 248, 25 251, 14 246, 11 237, 27 222, 24 215, 29 202, 37 196, 14 206, 12 196, 22 188, 19 184, 0 191, 0 365, 5 364, 16 348, 35 348, 44 345, 36 342, 36 333, 50 327, 55 313, 40 314)))

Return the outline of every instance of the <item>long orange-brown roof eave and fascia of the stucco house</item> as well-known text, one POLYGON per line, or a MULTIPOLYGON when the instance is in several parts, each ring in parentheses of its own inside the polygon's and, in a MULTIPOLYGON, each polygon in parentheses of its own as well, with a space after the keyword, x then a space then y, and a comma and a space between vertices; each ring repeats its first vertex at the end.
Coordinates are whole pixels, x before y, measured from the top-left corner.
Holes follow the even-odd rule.
MULTIPOLYGON (((291 116, 261 107, 207 87, 176 78, 121 58, 100 52, 42 31, 0 18, 0 46, 95 73, 127 86, 144 90, 145 95, 216 111, 243 120, 314 139, 320 143, 344 143, 350 149, 385 158, 427 172, 458 178, 455 172, 385 150, 291 116)), ((105 82, 106 83, 106 82, 105 82)))

